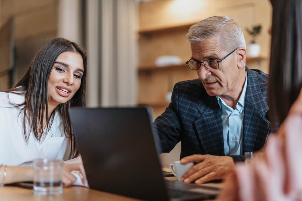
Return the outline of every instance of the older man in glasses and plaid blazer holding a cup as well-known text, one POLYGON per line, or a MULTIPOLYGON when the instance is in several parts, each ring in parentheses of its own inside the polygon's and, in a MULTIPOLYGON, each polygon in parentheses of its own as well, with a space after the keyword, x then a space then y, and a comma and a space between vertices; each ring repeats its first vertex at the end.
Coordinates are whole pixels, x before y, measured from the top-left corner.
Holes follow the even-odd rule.
POLYGON ((162 152, 182 141, 181 163, 195 163, 181 181, 200 184, 223 178, 244 152, 264 145, 268 75, 246 67, 242 30, 229 17, 202 20, 187 39, 187 64, 199 79, 176 83, 172 102, 153 124, 162 152))

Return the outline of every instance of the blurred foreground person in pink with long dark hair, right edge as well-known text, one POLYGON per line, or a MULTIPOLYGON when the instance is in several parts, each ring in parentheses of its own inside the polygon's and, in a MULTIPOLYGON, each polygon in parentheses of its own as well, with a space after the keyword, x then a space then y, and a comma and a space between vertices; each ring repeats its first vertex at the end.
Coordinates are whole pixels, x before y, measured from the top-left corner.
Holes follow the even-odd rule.
POLYGON ((269 112, 283 123, 258 158, 237 165, 219 200, 302 200, 302 1, 271 2, 269 112))

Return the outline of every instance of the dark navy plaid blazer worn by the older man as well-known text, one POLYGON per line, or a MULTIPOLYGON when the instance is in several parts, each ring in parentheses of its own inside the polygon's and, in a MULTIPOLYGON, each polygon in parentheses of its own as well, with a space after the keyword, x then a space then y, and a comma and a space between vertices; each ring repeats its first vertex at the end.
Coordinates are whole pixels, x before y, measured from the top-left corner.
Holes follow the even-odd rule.
MULTIPOLYGON (((242 152, 257 151, 265 144, 268 121, 268 75, 246 67, 242 152)), ((224 155, 221 111, 216 96, 209 96, 199 79, 176 83, 172 102, 153 122, 161 152, 170 152, 182 141, 180 158, 192 154, 224 155)), ((234 161, 244 156, 232 156, 234 161)))

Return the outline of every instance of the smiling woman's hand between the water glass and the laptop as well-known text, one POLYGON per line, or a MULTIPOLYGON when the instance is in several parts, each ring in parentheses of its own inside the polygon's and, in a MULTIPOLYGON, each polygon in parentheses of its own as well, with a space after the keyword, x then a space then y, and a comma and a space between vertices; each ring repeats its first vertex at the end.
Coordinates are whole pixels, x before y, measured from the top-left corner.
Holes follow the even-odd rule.
POLYGON ((84 166, 82 165, 82 163, 71 163, 71 164, 64 164, 63 180, 62 180, 64 187, 69 187, 76 181, 76 177, 71 173, 71 171, 73 170, 80 171, 82 175, 82 183, 85 185, 86 174, 85 174, 84 166))

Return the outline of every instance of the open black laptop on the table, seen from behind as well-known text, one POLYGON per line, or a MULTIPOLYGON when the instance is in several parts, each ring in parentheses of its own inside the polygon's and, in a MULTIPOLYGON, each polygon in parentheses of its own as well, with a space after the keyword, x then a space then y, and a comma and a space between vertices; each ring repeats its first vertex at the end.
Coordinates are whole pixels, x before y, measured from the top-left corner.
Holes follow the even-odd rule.
POLYGON ((201 200, 219 189, 164 179, 148 108, 71 108, 89 187, 143 200, 201 200), (210 192, 210 193, 207 193, 210 192))

